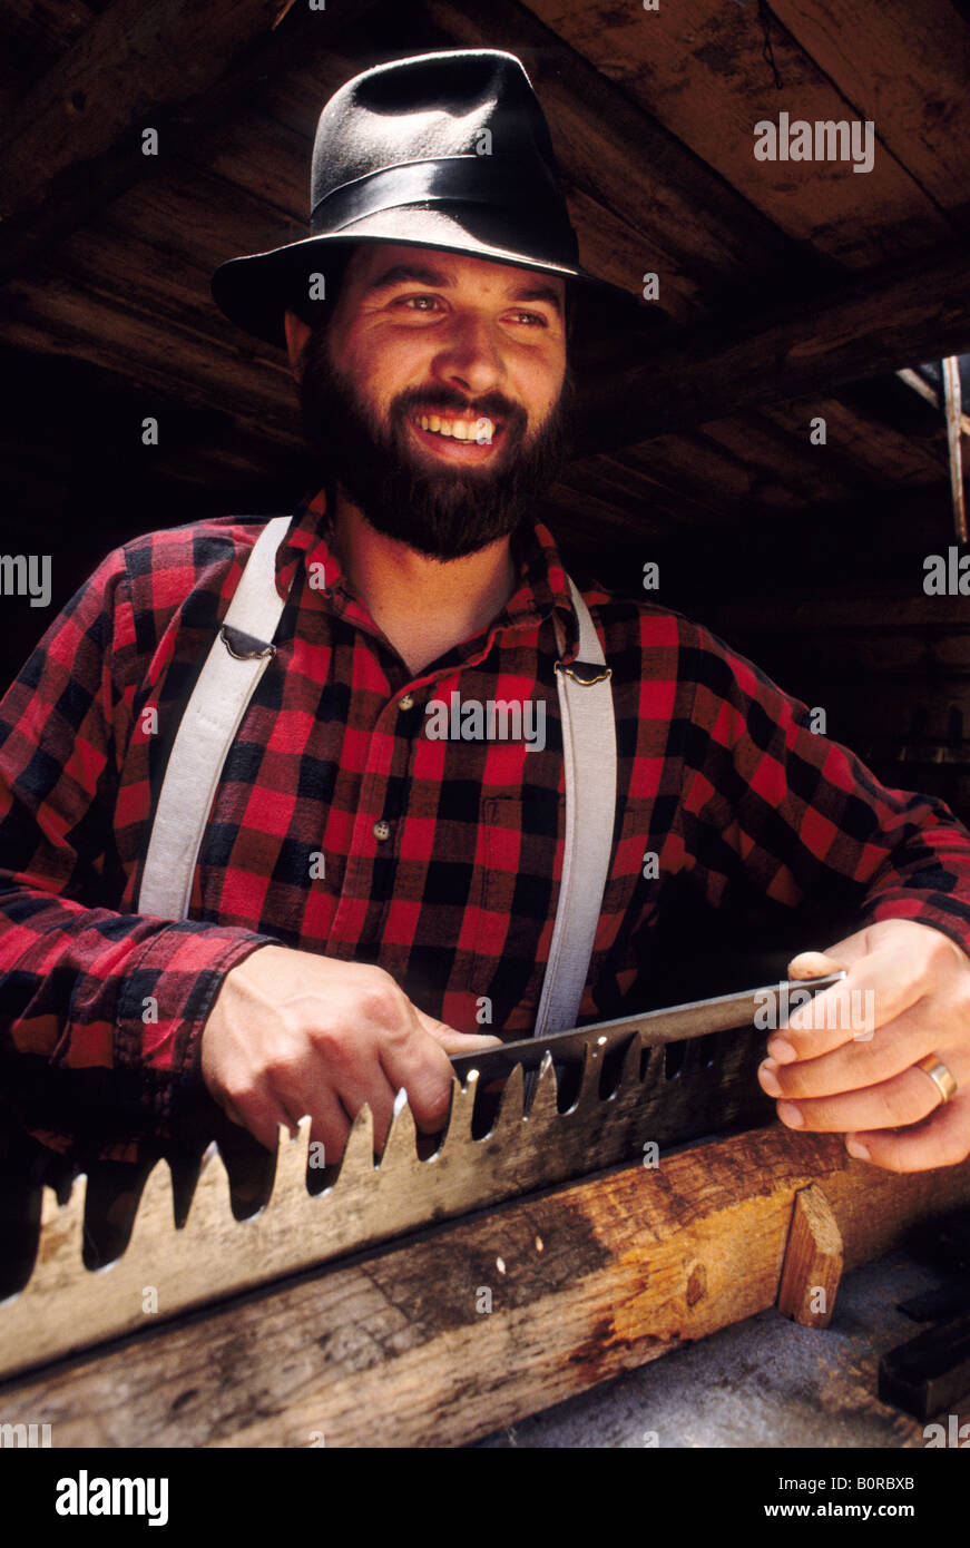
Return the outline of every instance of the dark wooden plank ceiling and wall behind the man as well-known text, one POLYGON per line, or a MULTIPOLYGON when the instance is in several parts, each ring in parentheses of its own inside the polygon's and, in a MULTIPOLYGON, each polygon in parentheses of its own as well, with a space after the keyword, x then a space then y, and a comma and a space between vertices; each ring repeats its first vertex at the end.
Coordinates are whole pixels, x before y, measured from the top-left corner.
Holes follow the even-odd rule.
MULTIPOLYGON (((924 590, 958 542, 947 437, 897 376, 970 348, 958 0, 851 22, 837 0, 9 0, 2 551, 51 554, 57 608, 118 542, 306 488, 285 362, 209 276, 303 234, 337 85, 447 46, 521 56, 583 262, 631 291, 657 276, 656 351, 619 362, 541 511, 568 560, 639 596, 657 563, 651 601, 970 819, 967 599, 924 590), (758 159, 753 125, 783 111, 871 121, 871 170, 758 159), (613 449, 583 455, 594 430, 613 449)), ((53 613, 0 602, 6 681, 53 613)))

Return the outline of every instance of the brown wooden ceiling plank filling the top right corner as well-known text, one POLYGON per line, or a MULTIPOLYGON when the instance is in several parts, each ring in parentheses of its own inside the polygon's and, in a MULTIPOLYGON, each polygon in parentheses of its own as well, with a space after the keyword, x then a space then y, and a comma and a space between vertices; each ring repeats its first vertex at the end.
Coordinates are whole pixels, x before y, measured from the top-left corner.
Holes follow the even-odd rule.
POLYGON ((967 229, 970 26, 950 0, 772 0, 772 11, 941 209, 967 229), (848 22, 848 25, 846 25, 848 22))

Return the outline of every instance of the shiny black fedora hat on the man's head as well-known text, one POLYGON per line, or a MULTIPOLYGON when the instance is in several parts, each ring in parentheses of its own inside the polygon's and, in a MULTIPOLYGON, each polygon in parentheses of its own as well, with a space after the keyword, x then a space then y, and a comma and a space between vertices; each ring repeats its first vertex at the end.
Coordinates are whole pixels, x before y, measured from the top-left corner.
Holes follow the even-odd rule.
POLYGON ((360 241, 407 243, 558 274, 574 285, 577 396, 656 336, 656 305, 582 268, 543 110, 515 54, 449 50, 354 76, 320 113, 309 235, 231 259, 218 307, 283 344, 283 311, 313 317, 328 259, 360 241))

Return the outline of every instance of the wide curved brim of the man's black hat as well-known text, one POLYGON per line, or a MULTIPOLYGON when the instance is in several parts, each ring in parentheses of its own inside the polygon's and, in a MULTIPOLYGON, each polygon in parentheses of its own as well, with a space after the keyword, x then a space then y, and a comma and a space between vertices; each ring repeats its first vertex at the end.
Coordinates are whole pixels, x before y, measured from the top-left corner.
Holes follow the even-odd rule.
POLYGON ((215 271, 212 294, 220 310, 246 333, 285 347, 283 313, 306 313, 311 276, 326 276, 328 252, 360 241, 404 243, 576 282, 569 354, 579 398, 591 393, 594 379, 602 373, 613 375, 623 364, 642 359, 645 347, 656 347, 670 320, 662 307, 647 303, 579 265, 551 263, 540 254, 511 251, 487 240, 486 234, 473 229, 475 224, 481 229, 481 206, 455 204, 447 211, 441 204, 381 211, 340 232, 323 232, 268 252, 231 259, 215 271))

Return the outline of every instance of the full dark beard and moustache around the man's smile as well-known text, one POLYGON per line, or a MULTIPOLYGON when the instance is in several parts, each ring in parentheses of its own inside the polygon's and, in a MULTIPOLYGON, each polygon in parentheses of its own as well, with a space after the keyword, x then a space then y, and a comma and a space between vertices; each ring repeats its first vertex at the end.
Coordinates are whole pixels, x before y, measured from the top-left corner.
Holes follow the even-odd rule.
POLYGON ((464 398, 447 387, 410 389, 390 404, 388 424, 377 423, 353 382, 334 367, 326 330, 306 344, 300 407, 303 433, 330 478, 384 537, 407 543, 430 559, 461 559, 514 533, 535 500, 558 477, 568 455, 566 432, 572 381, 566 373, 558 404, 541 430, 526 441, 528 415, 501 393, 464 398), (427 467, 408 446, 408 416, 467 412, 503 421, 495 466, 427 467))

